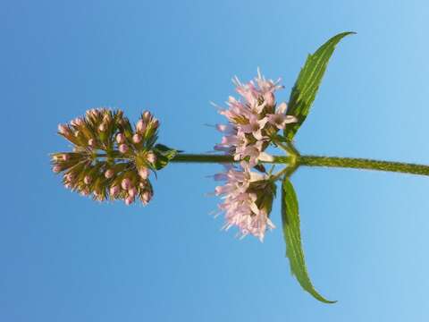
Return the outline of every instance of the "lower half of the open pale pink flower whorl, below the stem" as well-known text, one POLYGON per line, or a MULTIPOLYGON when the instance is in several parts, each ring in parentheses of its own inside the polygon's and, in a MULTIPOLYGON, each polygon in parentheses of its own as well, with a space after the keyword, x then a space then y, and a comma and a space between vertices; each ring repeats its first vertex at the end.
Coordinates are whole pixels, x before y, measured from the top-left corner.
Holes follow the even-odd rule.
POLYGON ((248 166, 229 166, 214 179, 225 181, 215 189, 223 197, 219 208, 225 212, 225 230, 236 225, 242 237, 253 234, 262 242, 267 228, 275 228, 270 218, 275 185, 265 174, 251 172, 248 166))

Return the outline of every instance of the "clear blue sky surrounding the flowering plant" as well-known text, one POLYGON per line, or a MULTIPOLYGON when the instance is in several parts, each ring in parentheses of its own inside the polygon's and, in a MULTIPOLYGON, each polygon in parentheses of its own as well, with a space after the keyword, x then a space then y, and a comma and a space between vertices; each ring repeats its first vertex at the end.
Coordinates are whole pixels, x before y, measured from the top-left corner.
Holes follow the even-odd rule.
MULTIPOLYGON (((302 235, 315 301, 290 275, 282 231, 220 231, 205 178, 171 165, 147 207, 66 191, 48 153, 57 123, 97 106, 152 110, 160 139, 193 152, 220 136, 209 101, 260 66, 290 88, 344 31, 302 153, 429 164, 427 1, 2 1, 0 320, 427 321, 429 178, 301 168, 302 235)), ((277 200, 279 201, 279 200, 277 200)), ((273 222, 281 224, 278 202, 273 222)))

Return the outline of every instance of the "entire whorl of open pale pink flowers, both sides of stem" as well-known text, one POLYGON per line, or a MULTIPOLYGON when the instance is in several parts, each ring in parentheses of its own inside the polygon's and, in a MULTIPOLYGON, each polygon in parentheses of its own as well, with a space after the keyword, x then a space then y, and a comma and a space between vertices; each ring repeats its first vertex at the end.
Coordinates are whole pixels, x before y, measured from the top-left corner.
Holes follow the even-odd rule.
POLYGON ((216 125, 223 138, 214 150, 233 156, 240 165, 215 175, 226 180, 223 186, 216 187, 215 193, 224 199, 219 205, 225 213, 224 228, 236 225, 242 236, 253 234, 262 241, 266 229, 274 227, 269 214, 275 185, 267 175, 255 179, 260 174, 251 169, 258 168, 260 161, 273 161, 265 149, 279 130, 297 119, 286 114, 285 102, 276 103, 274 93, 282 89, 280 80, 266 80, 258 70, 255 80, 242 84, 235 77, 233 82, 242 98, 229 97, 228 108, 219 109, 229 123, 216 125))

